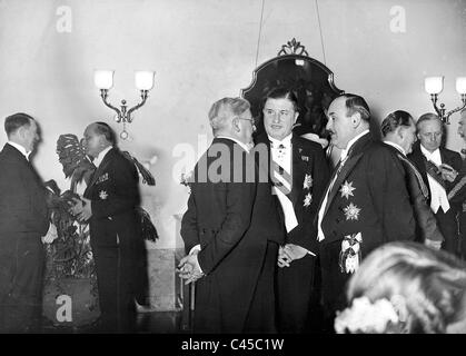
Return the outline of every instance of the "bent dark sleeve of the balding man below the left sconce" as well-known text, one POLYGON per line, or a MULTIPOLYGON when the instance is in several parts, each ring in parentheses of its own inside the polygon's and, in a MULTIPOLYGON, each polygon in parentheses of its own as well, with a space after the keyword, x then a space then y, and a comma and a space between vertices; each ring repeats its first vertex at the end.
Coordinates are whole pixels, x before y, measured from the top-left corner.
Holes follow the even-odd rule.
POLYGON ((115 185, 107 199, 92 200, 92 216, 106 218, 135 209, 139 197, 138 176, 136 167, 120 158, 112 167, 115 185))

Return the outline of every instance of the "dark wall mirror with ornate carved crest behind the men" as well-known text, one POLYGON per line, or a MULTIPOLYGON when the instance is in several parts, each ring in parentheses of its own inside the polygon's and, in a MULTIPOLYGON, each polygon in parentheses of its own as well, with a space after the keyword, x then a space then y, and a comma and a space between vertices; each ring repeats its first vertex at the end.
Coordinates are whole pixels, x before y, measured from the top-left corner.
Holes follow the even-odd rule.
POLYGON ((290 88, 298 98, 299 117, 294 132, 316 134, 327 138, 326 110, 331 100, 345 91, 335 86, 334 72, 310 58, 305 47, 295 38, 281 46, 277 57, 256 68, 249 87, 240 91, 241 98, 251 103, 251 113, 257 120, 257 134, 264 131, 264 97, 275 87, 290 88))

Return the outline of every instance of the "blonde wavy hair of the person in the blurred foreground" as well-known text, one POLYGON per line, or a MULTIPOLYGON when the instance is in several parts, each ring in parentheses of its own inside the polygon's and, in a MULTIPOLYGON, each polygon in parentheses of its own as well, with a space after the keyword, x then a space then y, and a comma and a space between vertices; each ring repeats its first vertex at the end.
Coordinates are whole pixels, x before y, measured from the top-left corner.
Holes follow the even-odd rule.
POLYGON ((360 297, 371 303, 401 298, 399 333, 437 334, 466 319, 465 291, 463 261, 418 243, 397 241, 367 256, 349 280, 347 299, 351 304, 360 297))

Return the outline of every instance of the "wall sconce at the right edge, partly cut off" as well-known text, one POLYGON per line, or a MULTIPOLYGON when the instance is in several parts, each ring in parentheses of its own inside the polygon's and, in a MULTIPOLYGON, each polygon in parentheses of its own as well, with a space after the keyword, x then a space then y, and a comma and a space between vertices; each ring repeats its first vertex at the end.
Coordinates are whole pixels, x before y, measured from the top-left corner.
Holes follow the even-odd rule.
POLYGON ((438 95, 444 89, 444 77, 427 77, 424 81, 424 87, 430 95, 430 100, 434 103, 435 111, 445 123, 449 125, 449 117, 452 113, 466 108, 466 77, 456 78, 456 91, 462 97, 463 106, 459 106, 448 112, 445 112, 445 103, 440 103, 440 108, 437 107, 438 95))

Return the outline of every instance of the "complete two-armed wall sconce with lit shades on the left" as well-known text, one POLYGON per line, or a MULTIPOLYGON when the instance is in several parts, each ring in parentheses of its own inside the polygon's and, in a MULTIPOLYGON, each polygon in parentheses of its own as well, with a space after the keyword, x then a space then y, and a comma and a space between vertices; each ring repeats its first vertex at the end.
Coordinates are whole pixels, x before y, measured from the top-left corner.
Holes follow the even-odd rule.
POLYGON ((146 103, 148 92, 153 87, 153 76, 156 72, 135 72, 135 86, 141 92, 141 101, 130 109, 128 109, 127 101, 125 99, 121 100, 120 109, 107 101, 108 91, 113 87, 113 70, 95 70, 93 82, 96 87, 100 89, 100 97, 102 98, 103 103, 117 112, 115 120, 117 122, 123 122, 123 130, 121 131, 120 137, 125 140, 128 138, 128 132, 126 131, 126 122, 130 123, 132 121, 131 113, 146 103))

